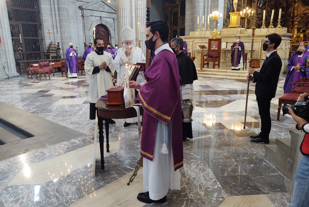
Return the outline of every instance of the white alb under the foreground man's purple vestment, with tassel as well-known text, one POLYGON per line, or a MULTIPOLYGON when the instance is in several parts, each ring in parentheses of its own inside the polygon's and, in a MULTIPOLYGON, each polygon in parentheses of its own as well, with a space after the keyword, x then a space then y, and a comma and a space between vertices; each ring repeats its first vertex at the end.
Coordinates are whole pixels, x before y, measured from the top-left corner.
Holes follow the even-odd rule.
MULTIPOLYGON (((166 43, 155 51, 155 55, 164 49, 172 52, 166 43)), ((149 197, 152 200, 159 200, 166 196, 168 189, 180 190, 180 173, 179 169, 174 171, 173 152, 171 149, 171 123, 172 120, 168 124, 157 120, 153 160, 143 159, 143 190, 144 192, 149 191, 149 197), (161 153, 164 134, 168 154, 161 153)))

